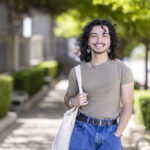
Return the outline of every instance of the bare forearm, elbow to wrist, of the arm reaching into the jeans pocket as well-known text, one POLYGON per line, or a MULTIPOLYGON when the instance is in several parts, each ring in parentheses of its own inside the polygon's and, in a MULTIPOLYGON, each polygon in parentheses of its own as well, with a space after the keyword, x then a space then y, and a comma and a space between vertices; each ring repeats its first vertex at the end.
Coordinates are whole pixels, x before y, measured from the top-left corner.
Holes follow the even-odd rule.
POLYGON ((131 117, 131 114, 132 114, 132 107, 128 106, 128 107, 123 107, 122 109, 122 112, 120 114, 120 121, 119 121, 119 125, 118 125, 118 128, 116 130, 117 133, 120 133, 122 134, 125 127, 127 126, 128 124, 128 121, 131 117))

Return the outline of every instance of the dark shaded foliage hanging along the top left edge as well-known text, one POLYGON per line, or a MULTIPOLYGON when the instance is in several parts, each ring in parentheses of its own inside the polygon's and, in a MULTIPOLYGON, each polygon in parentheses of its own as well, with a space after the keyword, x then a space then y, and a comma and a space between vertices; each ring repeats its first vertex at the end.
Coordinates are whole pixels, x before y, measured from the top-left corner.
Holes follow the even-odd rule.
POLYGON ((35 8, 51 15, 58 15, 68 8, 73 8, 70 0, 0 0, 0 2, 18 13, 27 13, 31 8, 35 8))

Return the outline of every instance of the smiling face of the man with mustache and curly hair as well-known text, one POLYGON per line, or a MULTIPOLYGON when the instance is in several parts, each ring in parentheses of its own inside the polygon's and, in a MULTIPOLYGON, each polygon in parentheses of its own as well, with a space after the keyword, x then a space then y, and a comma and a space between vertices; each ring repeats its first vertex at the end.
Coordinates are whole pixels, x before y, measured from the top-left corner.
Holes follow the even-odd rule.
POLYGON ((94 26, 89 34, 88 46, 91 52, 97 54, 107 52, 110 47, 109 28, 105 25, 94 26))

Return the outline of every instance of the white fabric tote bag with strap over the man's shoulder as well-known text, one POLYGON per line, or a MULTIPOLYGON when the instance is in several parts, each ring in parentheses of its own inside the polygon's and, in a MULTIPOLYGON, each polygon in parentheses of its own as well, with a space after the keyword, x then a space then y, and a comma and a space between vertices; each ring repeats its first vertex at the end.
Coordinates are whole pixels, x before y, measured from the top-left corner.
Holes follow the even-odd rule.
MULTIPOLYGON (((75 67, 79 93, 83 94, 80 65, 75 67)), ((73 107, 64 113, 59 131, 52 143, 52 150, 68 150, 79 107, 73 107)))

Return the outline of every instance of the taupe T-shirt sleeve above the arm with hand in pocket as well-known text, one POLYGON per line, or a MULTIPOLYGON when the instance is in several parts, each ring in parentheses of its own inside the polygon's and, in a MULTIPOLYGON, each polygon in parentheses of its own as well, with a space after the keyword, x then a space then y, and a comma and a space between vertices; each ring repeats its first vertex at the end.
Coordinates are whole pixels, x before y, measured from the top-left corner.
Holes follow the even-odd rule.
POLYGON ((128 66, 123 64, 121 66, 121 84, 126 84, 129 82, 134 82, 133 72, 128 66))

